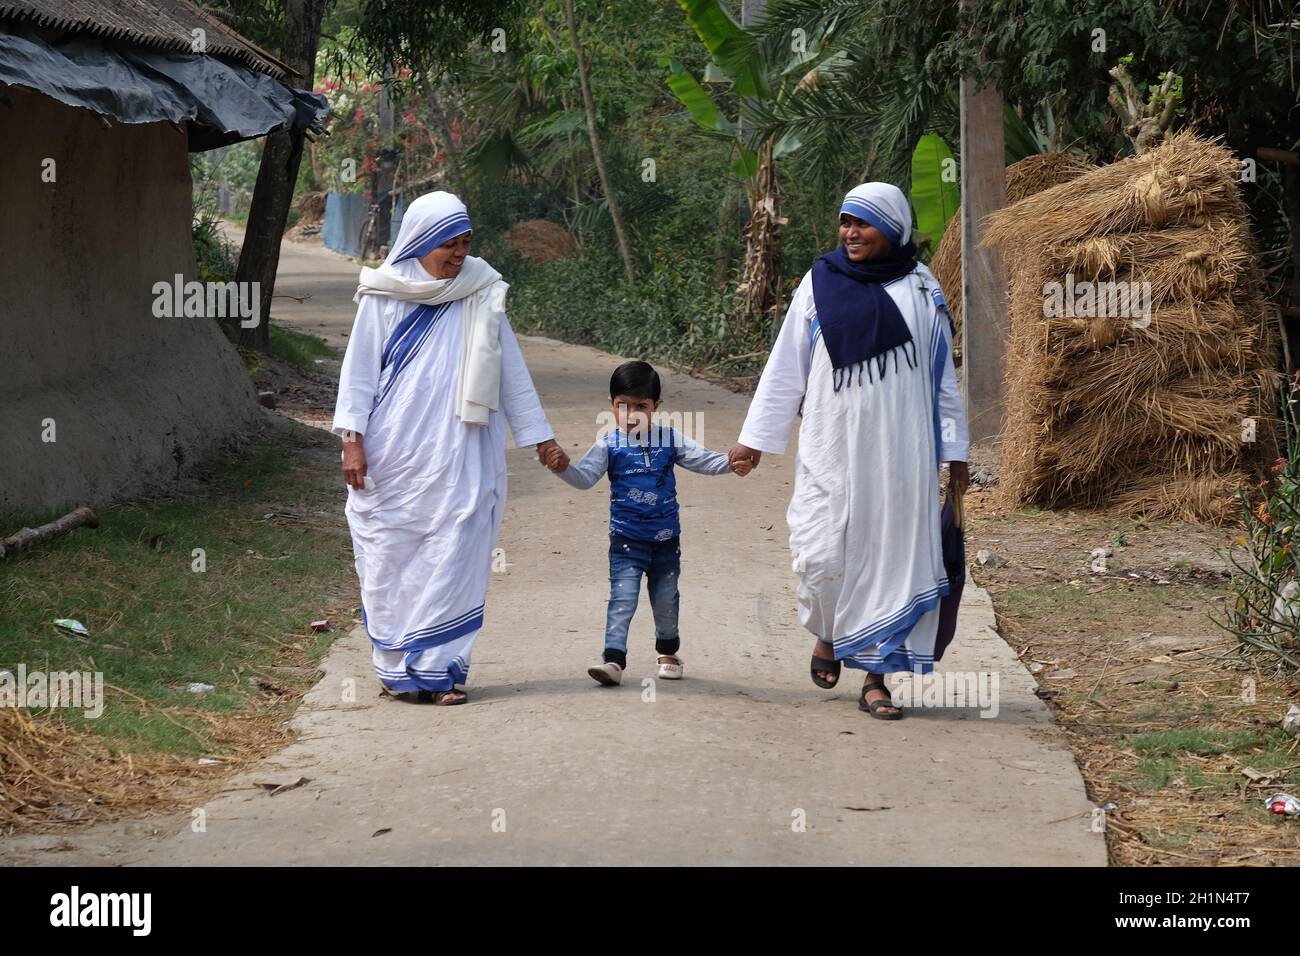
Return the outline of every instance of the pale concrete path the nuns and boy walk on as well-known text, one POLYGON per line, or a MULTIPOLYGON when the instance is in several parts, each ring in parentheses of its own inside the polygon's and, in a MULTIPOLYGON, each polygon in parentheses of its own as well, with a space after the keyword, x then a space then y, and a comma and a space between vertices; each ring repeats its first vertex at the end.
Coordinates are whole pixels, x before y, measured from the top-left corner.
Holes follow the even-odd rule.
MULTIPOLYGON (((329 306, 295 321, 339 341, 351 306, 330 299, 351 295, 356 267, 290 246, 280 290, 329 306)), ((540 338, 524 351, 562 444, 581 454, 619 359, 540 338)), ((664 375, 664 408, 689 412, 711 447, 734 442, 746 405, 664 375)), ((231 780, 204 808, 204 832, 186 818, 172 836, 105 842, 95 861, 1105 864, 1074 758, 982 589, 967 585, 942 667, 996 674, 996 718, 914 706, 901 722, 872 721, 855 705, 857 672, 838 692, 811 684, 785 546, 792 455, 764 457, 746 479, 679 475, 686 679, 646 683, 642 594, 625 683, 601 688, 585 669, 599 659, 608 589, 606 485, 576 492, 530 450, 508 454, 507 566, 488 596, 468 706, 378 697, 354 631, 298 711, 298 741, 231 780), (255 788, 299 777, 309 783, 278 796, 255 788)), ((342 520, 342 493, 339 510, 342 520)), ((88 861, 31 861, 74 857, 88 861)))

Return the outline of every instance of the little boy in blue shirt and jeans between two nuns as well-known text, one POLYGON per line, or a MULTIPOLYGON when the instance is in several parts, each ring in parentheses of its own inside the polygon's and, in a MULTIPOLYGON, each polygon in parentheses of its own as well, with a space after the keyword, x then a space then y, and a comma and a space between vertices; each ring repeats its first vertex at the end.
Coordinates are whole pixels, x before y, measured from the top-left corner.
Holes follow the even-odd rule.
MULTIPOLYGON (((659 676, 680 680, 677 575, 681 527, 672 468, 680 464, 701 475, 728 471, 745 475, 751 466, 740 462, 733 468, 727 455, 710 451, 671 428, 651 424, 650 416, 660 405, 659 373, 645 362, 627 362, 614 369, 610 403, 618 428, 597 438, 581 462, 556 471, 564 481, 582 489, 594 485, 604 473, 610 476, 610 609, 604 659, 586 672, 607 687, 623 682, 628 666, 628 624, 637 610, 644 574, 654 613, 659 676)), ((546 464, 555 470, 562 464, 559 449, 551 449, 551 460, 546 464)))

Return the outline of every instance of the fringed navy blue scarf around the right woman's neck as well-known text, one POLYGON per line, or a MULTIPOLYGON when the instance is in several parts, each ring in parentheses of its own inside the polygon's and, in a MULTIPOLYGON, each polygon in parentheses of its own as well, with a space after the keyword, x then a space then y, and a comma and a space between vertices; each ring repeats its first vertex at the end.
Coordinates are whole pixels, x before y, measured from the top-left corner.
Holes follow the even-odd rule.
MULTIPOLYGON (((822 341, 831 355, 835 369, 835 390, 845 381, 853 381, 854 367, 858 385, 866 367, 867 377, 875 382, 871 365, 884 378, 889 352, 898 346, 909 368, 916 367, 916 343, 898 306, 884 290, 884 284, 902 278, 916 268, 916 247, 913 243, 894 246, 889 255, 867 263, 849 259, 844 246, 827 252, 812 263, 812 304, 822 341), (911 354, 906 346, 911 343, 911 354)), ((898 352, 894 371, 898 369, 898 352)))

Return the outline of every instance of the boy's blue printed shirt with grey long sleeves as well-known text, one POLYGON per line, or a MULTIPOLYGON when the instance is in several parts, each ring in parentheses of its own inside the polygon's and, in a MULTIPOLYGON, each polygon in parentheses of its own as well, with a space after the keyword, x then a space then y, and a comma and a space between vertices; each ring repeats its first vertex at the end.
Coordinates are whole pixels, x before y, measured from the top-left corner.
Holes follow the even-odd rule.
POLYGON ((634 541, 668 541, 681 533, 677 480, 673 466, 723 475, 727 455, 710 451, 671 428, 650 428, 649 436, 629 438, 615 429, 601 436, 577 464, 560 473, 575 488, 590 488, 610 476, 610 533, 634 541))

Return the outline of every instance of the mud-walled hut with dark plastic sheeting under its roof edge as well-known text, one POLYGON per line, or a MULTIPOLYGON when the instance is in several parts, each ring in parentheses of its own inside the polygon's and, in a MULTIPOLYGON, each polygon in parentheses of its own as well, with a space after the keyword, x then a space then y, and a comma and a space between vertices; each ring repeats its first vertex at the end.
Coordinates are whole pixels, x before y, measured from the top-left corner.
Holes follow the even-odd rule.
POLYGON ((155 287, 195 277, 190 151, 317 124, 294 79, 185 0, 0 0, 0 512, 157 488, 257 414, 155 287))

